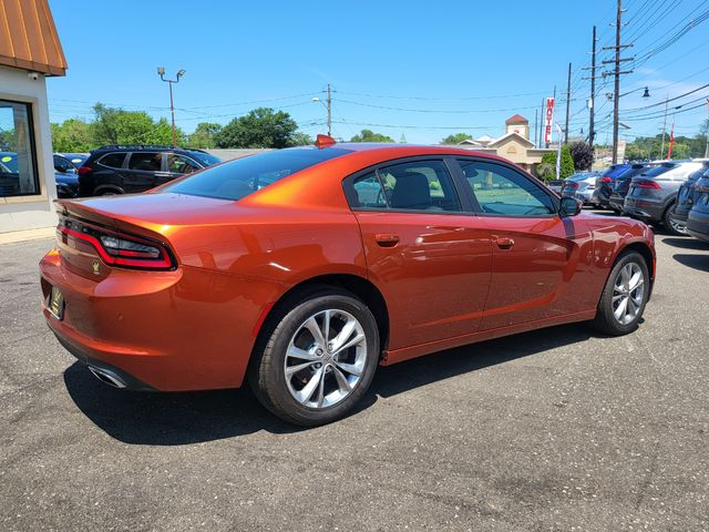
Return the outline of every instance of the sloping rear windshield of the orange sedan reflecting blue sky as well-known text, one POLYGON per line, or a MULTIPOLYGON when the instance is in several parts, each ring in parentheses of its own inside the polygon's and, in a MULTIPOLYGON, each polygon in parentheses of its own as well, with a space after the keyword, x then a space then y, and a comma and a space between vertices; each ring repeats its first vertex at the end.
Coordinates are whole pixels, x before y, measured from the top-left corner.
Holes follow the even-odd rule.
POLYGON ((237 201, 288 175, 347 153, 351 151, 291 147, 251 155, 207 168, 163 188, 163 192, 237 201))

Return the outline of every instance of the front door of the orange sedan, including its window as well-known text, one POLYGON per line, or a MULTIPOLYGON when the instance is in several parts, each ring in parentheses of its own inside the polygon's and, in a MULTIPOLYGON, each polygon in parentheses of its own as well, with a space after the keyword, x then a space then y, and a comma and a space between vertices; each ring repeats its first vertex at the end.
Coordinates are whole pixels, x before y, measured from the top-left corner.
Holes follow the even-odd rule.
POLYGON ((513 165, 458 162, 493 249, 481 330, 594 308, 593 238, 583 218, 561 217, 558 200, 513 165))

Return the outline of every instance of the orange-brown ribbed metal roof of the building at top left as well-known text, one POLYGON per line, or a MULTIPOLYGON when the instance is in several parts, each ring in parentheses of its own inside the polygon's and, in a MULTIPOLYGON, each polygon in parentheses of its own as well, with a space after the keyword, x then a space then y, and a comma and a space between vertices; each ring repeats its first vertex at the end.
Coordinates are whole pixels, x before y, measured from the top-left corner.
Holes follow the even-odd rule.
POLYGON ((65 74, 66 59, 48 0, 0 2, 0 64, 65 74))

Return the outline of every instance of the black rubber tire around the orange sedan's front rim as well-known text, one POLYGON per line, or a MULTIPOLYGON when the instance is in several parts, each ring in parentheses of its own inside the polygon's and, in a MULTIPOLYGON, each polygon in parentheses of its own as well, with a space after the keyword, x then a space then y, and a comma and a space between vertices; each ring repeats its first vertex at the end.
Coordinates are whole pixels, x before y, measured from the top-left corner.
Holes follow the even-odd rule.
MULTIPOLYGON (((603 294, 600 295, 600 300, 598 301, 596 317, 592 321, 592 326, 600 332, 609 336, 623 336, 633 332, 638 328, 638 323, 640 321, 643 313, 645 311, 645 305, 647 304, 649 290, 650 275, 645 262, 645 257, 643 257, 643 255, 640 255, 638 252, 628 250, 623 253, 610 270, 610 275, 608 275, 606 286, 604 287, 603 294), (621 270, 629 264, 637 265, 643 275, 643 297, 641 303, 638 305, 637 315, 628 323, 621 323, 616 318, 614 314, 614 310, 616 310, 617 308, 614 307, 614 295, 616 295, 614 293, 617 289, 616 283, 618 277, 620 276, 621 270)), ((626 305, 630 305, 630 303, 626 303, 626 305)))

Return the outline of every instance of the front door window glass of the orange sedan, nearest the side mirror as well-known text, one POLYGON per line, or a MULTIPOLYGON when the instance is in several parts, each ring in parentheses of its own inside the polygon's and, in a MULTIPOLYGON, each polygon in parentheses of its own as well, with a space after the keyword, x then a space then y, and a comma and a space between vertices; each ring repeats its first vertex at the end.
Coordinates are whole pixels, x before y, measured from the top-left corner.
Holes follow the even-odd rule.
POLYGON ((556 212, 552 198, 512 168, 482 161, 459 161, 482 214, 548 216, 556 212))

